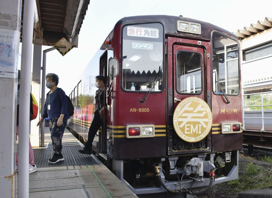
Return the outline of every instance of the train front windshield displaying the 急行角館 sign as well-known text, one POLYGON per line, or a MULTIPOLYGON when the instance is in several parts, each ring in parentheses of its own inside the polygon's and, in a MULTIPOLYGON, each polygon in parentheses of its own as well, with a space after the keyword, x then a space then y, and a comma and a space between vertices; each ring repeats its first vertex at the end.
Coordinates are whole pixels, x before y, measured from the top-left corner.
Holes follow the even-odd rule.
POLYGON ((161 24, 123 28, 122 87, 126 91, 163 89, 163 27, 161 24))

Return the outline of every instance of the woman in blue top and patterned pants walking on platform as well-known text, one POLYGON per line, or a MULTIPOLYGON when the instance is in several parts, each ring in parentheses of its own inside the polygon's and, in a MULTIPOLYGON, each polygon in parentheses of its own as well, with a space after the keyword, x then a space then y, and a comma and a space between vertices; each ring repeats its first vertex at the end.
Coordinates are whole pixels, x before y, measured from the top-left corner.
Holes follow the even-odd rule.
POLYGON ((59 84, 59 76, 54 73, 48 73, 45 78, 46 87, 50 89, 50 92, 48 92, 46 95, 43 115, 40 118, 37 126, 43 122, 44 118, 47 118, 47 116, 49 117, 49 129, 51 132, 54 155, 52 159, 48 160, 48 163, 57 163, 64 160, 61 154, 61 140, 67 120, 70 118, 70 116, 68 113, 66 94, 61 88, 57 87, 59 84))

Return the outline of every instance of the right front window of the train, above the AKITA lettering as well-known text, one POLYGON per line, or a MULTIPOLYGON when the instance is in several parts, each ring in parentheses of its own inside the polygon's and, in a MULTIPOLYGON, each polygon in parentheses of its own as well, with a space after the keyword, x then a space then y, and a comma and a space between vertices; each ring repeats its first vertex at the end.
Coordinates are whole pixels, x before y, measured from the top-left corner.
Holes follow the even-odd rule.
POLYGON ((213 33, 213 92, 239 94, 238 44, 236 41, 213 33), (220 86, 218 86, 218 82, 220 86))

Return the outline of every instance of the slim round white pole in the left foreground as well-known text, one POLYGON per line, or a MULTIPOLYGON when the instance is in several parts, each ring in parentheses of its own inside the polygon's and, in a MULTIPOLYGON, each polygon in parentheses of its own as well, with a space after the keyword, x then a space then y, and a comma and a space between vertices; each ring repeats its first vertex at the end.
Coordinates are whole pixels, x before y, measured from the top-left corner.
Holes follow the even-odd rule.
POLYGON ((19 171, 18 197, 29 197, 29 109, 31 86, 31 58, 33 41, 34 0, 24 0, 22 59, 19 100, 19 171))

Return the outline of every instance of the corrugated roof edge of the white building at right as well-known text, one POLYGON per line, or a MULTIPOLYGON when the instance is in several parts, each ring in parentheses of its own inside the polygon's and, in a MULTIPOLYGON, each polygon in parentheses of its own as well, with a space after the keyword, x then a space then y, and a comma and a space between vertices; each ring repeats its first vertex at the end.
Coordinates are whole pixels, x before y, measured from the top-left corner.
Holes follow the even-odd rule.
POLYGON ((244 39, 250 36, 257 35, 272 28, 272 18, 265 17, 263 21, 257 21, 256 24, 250 24, 249 27, 243 27, 242 30, 233 32, 237 37, 244 39))

